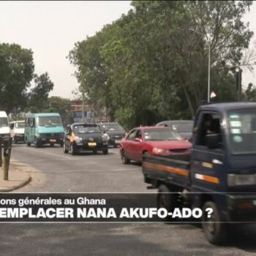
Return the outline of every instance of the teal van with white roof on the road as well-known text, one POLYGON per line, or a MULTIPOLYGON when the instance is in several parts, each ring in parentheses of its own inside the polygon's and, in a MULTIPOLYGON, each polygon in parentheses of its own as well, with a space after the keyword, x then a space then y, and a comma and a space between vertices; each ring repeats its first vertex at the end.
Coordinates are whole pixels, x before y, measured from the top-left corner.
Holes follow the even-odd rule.
POLYGON ((63 146, 64 127, 59 113, 32 113, 25 118, 25 141, 36 148, 43 144, 63 146))

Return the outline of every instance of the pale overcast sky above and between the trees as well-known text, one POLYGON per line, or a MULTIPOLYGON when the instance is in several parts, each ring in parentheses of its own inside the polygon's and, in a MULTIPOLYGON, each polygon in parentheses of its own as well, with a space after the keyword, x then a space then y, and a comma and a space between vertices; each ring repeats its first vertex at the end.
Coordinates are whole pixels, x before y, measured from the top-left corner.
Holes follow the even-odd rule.
MULTIPOLYGON (((69 50, 130 8, 130 1, 0 1, 0 42, 31 48, 35 72, 48 72, 55 85, 50 96, 71 98, 78 83, 66 59, 69 50)), ((256 34, 255 2, 244 20, 256 34)), ((243 73, 244 85, 255 79, 243 73)))

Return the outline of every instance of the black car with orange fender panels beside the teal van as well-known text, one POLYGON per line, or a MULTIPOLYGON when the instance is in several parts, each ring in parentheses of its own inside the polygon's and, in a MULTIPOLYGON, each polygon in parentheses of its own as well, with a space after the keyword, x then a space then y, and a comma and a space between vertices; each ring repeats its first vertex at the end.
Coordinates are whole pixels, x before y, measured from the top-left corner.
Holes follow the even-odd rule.
POLYGON ((102 134, 97 124, 70 124, 64 130, 63 151, 73 155, 83 151, 108 154, 108 135, 102 134))

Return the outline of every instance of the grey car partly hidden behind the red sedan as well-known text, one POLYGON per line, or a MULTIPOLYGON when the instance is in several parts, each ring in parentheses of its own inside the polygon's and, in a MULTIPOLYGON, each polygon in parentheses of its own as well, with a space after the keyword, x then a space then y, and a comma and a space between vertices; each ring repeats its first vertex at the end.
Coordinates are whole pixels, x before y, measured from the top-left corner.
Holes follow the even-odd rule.
POLYGON ((162 121, 156 124, 157 127, 170 127, 174 131, 178 132, 182 138, 188 140, 192 136, 194 121, 192 120, 173 120, 162 121))

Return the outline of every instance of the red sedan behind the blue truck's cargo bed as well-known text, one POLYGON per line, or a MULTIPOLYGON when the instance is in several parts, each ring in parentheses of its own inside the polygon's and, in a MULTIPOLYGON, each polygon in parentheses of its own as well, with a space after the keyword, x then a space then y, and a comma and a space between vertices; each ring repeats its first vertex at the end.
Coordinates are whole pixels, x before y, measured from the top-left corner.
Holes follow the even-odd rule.
POLYGON ((120 155, 124 164, 142 162, 143 154, 189 160, 192 144, 169 127, 137 127, 121 140, 120 155))

